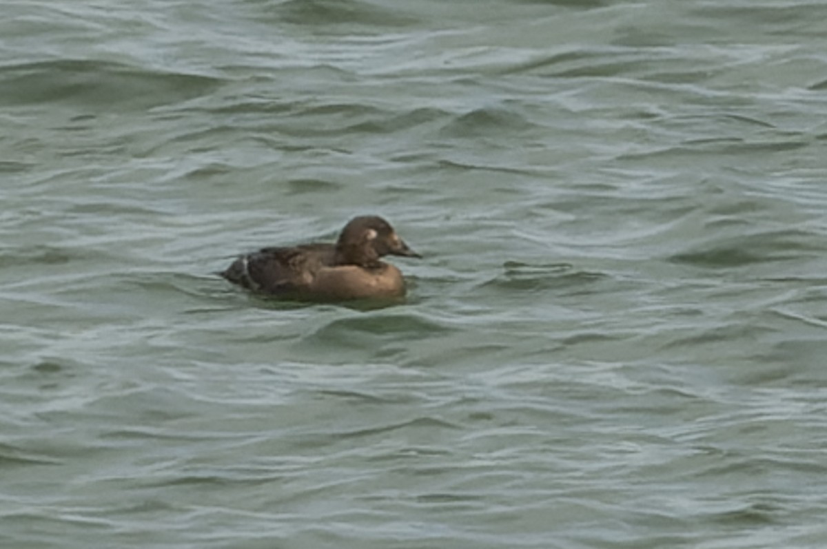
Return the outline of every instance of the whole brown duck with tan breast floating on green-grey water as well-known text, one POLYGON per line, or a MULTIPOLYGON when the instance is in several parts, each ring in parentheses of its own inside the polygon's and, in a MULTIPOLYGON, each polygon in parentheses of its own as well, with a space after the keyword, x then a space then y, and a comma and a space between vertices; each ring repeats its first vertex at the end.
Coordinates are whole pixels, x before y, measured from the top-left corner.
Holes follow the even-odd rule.
POLYGON ((422 257, 382 217, 359 216, 334 244, 262 248, 219 274, 258 294, 300 301, 403 298, 402 272, 382 261, 385 255, 422 257))

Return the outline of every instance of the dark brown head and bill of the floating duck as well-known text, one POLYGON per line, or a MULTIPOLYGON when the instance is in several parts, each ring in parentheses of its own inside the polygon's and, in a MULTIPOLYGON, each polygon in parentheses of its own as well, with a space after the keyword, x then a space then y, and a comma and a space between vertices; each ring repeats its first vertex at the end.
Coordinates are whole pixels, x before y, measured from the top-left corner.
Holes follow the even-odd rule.
POLYGON ((375 267, 383 255, 422 257, 411 250, 390 223, 377 216, 354 217, 336 242, 337 263, 375 267))

